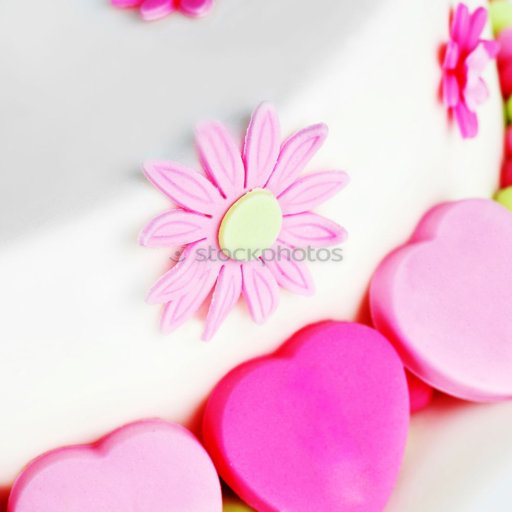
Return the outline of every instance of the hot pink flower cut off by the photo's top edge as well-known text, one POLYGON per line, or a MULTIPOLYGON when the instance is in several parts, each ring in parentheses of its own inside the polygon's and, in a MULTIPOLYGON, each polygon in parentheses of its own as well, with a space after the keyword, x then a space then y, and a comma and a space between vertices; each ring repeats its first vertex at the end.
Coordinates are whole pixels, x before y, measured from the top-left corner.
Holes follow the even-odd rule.
POLYGON ((143 19, 151 21, 163 18, 177 9, 198 18, 207 14, 213 0, 111 0, 115 7, 138 7, 143 19))

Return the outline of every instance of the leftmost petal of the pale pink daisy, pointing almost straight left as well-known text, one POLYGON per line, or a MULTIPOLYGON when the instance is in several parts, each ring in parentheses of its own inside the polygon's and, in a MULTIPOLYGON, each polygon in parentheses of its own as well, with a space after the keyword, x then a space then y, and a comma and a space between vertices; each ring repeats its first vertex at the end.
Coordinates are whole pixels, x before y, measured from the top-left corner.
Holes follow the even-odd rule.
POLYGON ((139 244, 145 247, 174 247, 197 242, 206 237, 209 217, 176 208, 163 212, 139 234, 139 244))

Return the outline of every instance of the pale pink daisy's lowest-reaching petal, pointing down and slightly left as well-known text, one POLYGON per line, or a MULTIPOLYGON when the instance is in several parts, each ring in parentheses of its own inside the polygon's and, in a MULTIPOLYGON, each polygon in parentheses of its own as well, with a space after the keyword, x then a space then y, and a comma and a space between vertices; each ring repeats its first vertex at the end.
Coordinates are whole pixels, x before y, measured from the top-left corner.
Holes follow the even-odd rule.
POLYGON ((221 268, 214 295, 211 298, 202 339, 207 342, 217 332, 222 322, 237 303, 242 292, 242 271, 238 264, 221 268))

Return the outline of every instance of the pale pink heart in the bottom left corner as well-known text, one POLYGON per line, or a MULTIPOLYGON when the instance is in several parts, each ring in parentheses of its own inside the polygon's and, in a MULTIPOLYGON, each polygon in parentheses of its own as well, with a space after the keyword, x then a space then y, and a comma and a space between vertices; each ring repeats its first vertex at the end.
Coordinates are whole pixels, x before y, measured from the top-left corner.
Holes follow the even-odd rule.
POLYGON ((8 512, 221 510, 219 478, 203 447, 163 420, 42 455, 18 477, 8 505, 8 512))

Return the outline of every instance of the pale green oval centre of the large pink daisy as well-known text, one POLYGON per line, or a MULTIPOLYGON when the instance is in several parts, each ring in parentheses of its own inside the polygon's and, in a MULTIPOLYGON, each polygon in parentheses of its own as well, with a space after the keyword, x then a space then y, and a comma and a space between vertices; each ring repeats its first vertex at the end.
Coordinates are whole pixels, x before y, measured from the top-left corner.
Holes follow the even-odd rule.
POLYGON ((272 247, 282 224, 278 200, 268 190, 255 188, 227 210, 219 228, 220 248, 232 260, 257 259, 272 247))

